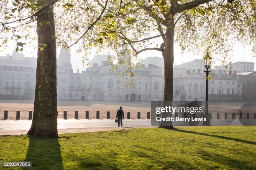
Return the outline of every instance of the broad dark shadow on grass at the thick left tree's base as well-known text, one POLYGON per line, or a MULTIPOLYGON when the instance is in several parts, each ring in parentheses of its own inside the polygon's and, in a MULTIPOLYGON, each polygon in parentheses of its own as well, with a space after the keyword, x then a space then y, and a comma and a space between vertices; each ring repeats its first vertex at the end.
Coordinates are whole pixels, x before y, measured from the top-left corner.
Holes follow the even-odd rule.
POLYGON ((61 149, 57 138, 28 137, 29 145, 24 161, 31 161, 32 169, 63 170, 61 149))

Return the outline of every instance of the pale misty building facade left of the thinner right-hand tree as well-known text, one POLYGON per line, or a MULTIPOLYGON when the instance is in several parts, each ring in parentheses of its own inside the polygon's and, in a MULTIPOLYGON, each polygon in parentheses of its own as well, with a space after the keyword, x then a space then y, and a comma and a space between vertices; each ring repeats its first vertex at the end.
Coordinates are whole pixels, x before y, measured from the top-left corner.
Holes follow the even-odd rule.
MULTIPOLYGON (((110 71, 111 64, 97 55, 91 67, 82 73, 72 70, 70 52, 61 50, 57 58, 57 99, 142 102, 162 100, 163 69, 153 64, 133 71, 135 80, 125 84, 120 70, 110 71), (102 60, 102 61, 100 61, 102 60), (100 63, 100 64, 99 64, 100 63)), ((0 99, 33 99, 36 82, 36 58, 14 51, 0 57, 0 99)), ((94 60, 92 60, 93 62, 94 60)))

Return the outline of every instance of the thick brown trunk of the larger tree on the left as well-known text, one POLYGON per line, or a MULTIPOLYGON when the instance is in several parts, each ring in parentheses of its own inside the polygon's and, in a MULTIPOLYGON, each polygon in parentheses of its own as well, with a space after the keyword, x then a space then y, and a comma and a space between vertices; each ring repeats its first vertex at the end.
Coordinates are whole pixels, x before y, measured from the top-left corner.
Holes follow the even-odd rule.
POLYGON ((38 16, 37 35, 36 92, 33 120, 28 135, 57 138, 56 41, 53 5, 38 16), (50 23, 46 24, 45 21, 50 23), (46 47, 40 50, 43 44, 46 44, 46 47))

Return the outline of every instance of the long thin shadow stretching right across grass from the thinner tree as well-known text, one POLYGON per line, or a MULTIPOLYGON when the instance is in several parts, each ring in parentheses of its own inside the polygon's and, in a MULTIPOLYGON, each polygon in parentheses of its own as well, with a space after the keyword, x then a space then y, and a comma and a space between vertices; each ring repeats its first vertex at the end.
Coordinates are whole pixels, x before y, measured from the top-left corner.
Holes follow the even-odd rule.
POLYGON ((181 129, 172 129, 172 130, 178 131, 178 132, 183 132, 183 133, 192 133, 192 134, 196 134, 196 135, 204 135, 204 136, 210 136, 210 137, 215 137, 215 138, 220 138, 220 139, 233 140, 236 142, 256 145, 256 142, 253 142, 253 141, 242 140, 242 139, 238 139, 238 138, 230 138, 227 136, 211 135, 211 134, 207 134, 207 133, 199 133, 199 132, 194 132, 194 131, 189 131, 189 130, 181 130, 181 129))

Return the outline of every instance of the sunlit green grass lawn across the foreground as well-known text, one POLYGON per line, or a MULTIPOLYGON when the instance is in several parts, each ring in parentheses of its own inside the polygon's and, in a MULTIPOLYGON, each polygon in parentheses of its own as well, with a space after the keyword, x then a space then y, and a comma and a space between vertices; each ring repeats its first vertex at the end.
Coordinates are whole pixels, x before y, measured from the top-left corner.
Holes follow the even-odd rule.
MULTIPOLYGON (((0 137, 0 160, 32 161, 32 169, 256 169, 256 127, 131 129, 0 137)), ((26 168, 24 168, 26 169, 26 168)))

